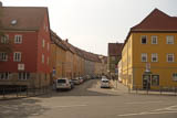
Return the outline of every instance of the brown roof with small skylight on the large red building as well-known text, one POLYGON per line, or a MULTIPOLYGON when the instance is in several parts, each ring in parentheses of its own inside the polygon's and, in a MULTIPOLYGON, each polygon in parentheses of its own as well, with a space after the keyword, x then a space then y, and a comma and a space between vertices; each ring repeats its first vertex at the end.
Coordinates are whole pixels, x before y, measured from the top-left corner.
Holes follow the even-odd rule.
POLYGON ((0 21, 3 30, 39 30, 48 8, 43 7, 0 7, 0 21), (12 25, 12 20, 17 24, 12 25))

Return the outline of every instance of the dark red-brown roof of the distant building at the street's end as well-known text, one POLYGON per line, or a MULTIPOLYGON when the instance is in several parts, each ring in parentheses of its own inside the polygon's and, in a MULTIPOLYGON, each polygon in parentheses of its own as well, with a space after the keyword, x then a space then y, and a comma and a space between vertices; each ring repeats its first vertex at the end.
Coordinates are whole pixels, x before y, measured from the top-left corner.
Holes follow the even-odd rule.
POLYGON ((108 55, 118 56, 122 55, 123 43, 108 43, 108 55))

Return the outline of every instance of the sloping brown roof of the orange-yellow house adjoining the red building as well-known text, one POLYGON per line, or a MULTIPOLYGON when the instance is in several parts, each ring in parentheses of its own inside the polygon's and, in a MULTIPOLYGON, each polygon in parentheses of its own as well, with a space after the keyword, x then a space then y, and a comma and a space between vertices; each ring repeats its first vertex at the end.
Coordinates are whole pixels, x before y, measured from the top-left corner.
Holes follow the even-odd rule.
POLYGON ((53 43, 55 43, 58 46, 60 46, 63 50, 67 50, 67 47, 63 44, 62 39, 60 36, 58 36, 56 33, 54 33, 53 31, 51 31, 51 40, 53 43))

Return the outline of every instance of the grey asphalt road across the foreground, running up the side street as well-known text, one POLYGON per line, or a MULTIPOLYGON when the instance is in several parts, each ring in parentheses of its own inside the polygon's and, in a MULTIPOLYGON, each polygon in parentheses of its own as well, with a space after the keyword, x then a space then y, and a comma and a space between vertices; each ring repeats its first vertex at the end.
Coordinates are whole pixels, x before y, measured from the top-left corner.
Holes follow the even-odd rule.
POLYGON ((177 118, 177 96, 104 89, 94 79, 52 96, 1 100, 0 118, 177 118))

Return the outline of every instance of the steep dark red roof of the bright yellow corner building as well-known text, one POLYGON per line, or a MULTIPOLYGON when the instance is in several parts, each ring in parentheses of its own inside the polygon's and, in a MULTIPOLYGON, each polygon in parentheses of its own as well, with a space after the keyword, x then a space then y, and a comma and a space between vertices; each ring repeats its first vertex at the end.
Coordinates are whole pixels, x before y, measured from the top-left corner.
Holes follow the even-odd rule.
POLYGON ((177 31, 177 18, 169 17, 163 11, 155 9, 132 31, 177 31))

